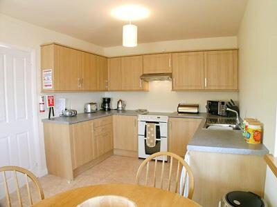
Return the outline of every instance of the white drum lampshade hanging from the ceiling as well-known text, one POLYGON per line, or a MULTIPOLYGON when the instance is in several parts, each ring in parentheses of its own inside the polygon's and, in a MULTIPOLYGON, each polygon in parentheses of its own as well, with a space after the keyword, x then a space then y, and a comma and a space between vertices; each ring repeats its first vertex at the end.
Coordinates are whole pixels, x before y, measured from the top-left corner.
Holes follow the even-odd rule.
POLYGON ((123 46, 136 47, 138 27, 134 24, 123 26, 123 46))

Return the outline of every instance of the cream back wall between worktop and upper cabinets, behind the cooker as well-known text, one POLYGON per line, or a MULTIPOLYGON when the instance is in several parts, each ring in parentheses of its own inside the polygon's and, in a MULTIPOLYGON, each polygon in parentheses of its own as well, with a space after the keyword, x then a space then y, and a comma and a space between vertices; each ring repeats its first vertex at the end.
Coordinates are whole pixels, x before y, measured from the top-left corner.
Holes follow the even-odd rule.
POLYGON ((152 112, 177 111, 178 103, 199 103, 200 112, 206 112, 209 99, 238 101, 238 92, 175 92, 171 88, 171 81, 154 81, 149 83, 149 92, 105 92, 105 96, 112 98, 112 108, 123 99, 129 110, 146 108, 152 112))

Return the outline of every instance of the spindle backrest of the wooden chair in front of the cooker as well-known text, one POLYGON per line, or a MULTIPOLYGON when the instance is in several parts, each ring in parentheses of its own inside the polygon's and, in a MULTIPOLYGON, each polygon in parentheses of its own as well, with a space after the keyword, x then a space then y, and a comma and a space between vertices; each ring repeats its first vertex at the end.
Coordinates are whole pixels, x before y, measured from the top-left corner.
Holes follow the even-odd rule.
POLYGON ((164 171, 165 171, 165 159, 166 156, 168 156, 168 159, 170 161, 170 168, 168 172, 168 185, 166 190, 171 190, 170 189, 170 184, 172 180, 172 164, 173 164, 173 159, 177 159, 178 164, 177 164, 177 172, 176 172, 176 177, 175 177, 175 185, 174 185, 174 192, 177 193, 178 191, 178 184, 180 183, 179 186, 179 194, 184 195, 185 194, 185 189, 186 189, 186 180, 188 179, 188 198, 191 199, 193 197, 193 190, 194 190, 194 179, 193 179, 193 172, 190 170, 190 167, 184 161, 183 158, 179 157, 179 155, 175 155, 172 152, 157 152, 154 153, 153 155, 150 155, 148 158, 146 158, 141 166, 139 166, 139 170, 136 174, 136 184, 139 184, 139 179, 141 177, 142 170, 144 166, 146 165, 146 172, 145 172, 145 186, 148 186, 148 174, 150 171, 150 161, 154 159, 154 181, 153 181, 153 186, 157 188, 157 177, 161 178, 161 185, 160 188, 163 188, 163 177, 164 177, 164 171), (157 176, 157 158, 162 156, 163 157, 163 162, 161 166, 161 174, 157 176), (181 165, 181 166, 180 166, 181 165), (183 168, 182 172, 180 173, 181 168, 183 168), (182 175, 182 176, 181 176, 182 175), (181 181, 180 181, 181 179, 181 181))

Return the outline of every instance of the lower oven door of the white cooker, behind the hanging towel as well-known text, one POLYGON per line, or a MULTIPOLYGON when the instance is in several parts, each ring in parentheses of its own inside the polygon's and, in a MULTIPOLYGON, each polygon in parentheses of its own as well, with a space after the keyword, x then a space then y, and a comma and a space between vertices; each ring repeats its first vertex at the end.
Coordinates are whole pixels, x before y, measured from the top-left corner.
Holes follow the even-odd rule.
MULTIPOLYGON (((144 135, 139 135, 139 158, 147 158, 156 152, 167 152, 168 151, 168 139, 166 137, 161 137, 161 139, 156 139, 156 146, 150 148, 146 144, 146 138, 144 135)), ((163 160, 163 157, 158 157, 158 160, 163 160)), ((167 161, 167 157, 165 159, 167 161)))

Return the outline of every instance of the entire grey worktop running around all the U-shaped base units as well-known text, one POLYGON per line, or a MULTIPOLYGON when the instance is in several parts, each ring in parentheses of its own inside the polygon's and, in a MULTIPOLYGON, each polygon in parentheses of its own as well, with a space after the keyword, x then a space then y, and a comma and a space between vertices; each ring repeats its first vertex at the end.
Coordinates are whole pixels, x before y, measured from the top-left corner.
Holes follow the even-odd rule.
MULTIPOLYGON (((138 113, 135 110, 98 110, 91 114, 80 113, 75 117, 53 117, 51 119, 42 119, 43 122, 50 122, 55 124, 76 124, 82 121, 89 121, 91 119, 98 119, 111 115, 126 115, 136 116, 138 113)), ((171 118, 191 118, 203 119, 202 123, 197 128, 195 135, 189 141, 187 149, 204 151, 204 152, 222 152, 243 155, 265 155, 269 152, 263 144, 247 144, 242 137, 240 130, 206 130, 202 129, 206 117, 218 116, 208 115, 200 112, 199 114, 178 114, 177 112, 149 112, 148 115, 164 115, 171 118)), ((224 117, 220 117, 223 118, 224 117)))

